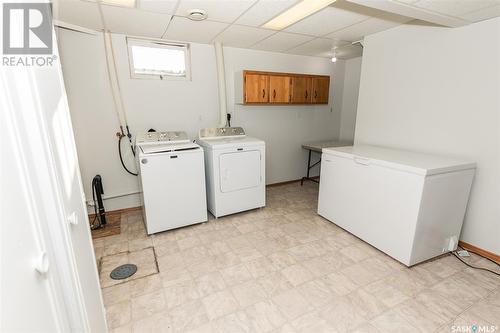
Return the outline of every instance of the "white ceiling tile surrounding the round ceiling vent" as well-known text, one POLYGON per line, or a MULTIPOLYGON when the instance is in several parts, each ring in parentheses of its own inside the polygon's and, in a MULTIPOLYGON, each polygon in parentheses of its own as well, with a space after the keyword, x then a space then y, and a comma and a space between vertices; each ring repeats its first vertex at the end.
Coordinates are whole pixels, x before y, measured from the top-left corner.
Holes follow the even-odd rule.
POLYGON ((232 23, 256 0, 181 0, 177 16, 187 16, 191 9, 203 9, 212 21, 232 23))

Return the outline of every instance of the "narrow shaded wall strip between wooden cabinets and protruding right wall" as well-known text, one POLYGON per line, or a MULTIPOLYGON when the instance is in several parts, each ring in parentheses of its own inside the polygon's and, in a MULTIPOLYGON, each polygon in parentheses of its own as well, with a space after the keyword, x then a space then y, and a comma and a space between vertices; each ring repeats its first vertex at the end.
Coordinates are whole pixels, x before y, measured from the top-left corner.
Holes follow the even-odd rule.
POLYGON ((354 140, 356 112, 358 109, 359 79, 361 76, 361 57, 346 60, 344 92, 342 95, 342 114, 340 118, 340 139, 354 140))

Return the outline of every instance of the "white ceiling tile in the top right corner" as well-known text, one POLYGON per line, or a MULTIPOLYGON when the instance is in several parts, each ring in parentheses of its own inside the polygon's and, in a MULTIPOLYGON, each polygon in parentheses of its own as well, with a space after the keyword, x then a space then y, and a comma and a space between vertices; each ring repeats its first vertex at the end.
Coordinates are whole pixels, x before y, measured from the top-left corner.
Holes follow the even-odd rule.
POLYGON ((431 10, 449 16, 461 16, 466 13, 499 4, 498 0, 420 0, 413 6, 431 10))

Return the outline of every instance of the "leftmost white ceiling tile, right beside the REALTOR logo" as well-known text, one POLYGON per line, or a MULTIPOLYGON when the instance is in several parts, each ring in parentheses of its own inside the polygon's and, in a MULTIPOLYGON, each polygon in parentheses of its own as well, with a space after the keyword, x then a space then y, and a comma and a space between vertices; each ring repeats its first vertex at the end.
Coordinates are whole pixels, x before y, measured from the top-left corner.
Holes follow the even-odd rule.
POLYGON ((81 27, 102 30, 99 8, 95 2, 55 0, 52 2, 54 19, 81 27))

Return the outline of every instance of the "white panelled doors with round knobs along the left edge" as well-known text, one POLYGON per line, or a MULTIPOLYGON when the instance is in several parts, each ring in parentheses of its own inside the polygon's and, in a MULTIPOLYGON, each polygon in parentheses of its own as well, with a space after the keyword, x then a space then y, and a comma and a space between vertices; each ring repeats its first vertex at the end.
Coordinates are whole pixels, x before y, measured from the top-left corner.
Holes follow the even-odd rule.
POLYGON ((2 332, 106 331, 56 47, 54 55, 52 66, 0 72, 2 332))

